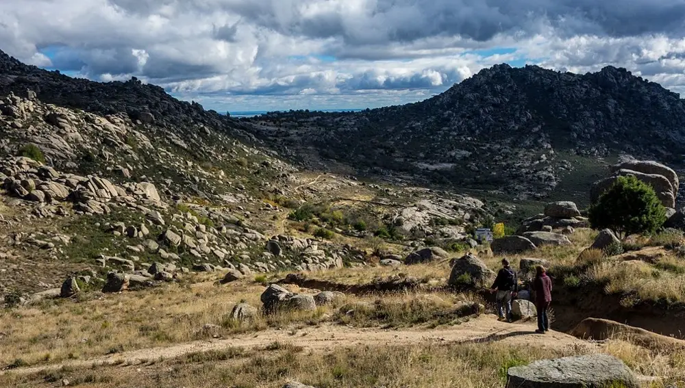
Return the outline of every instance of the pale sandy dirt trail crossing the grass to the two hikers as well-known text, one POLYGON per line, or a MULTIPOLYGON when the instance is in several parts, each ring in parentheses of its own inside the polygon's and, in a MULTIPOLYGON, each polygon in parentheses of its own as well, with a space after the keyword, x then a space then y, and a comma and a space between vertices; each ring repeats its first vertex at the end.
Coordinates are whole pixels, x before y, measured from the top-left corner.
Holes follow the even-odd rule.
POLYGON ((249 335, 238 335, 229 339, 193 341, 165 348, 134 350, 83 361, 66 361, 54 365, 23 367, 0 372, 0 374, 30 374, 56 370, 63 366, 90 367, 92 365, 119 365, 122 363, 134 365, 159 359, 173 359, 195 352, 225 350, 232 347, 264 348, 275 341, 282 344, 301 346, 313 351, 326 351, 338 347, 353 346, 420 344, 425 341, 452 342, 457 344, 505 341, 513 346, 531 346, 534 342, 537 346, 553 349, 593 346, 590 342, 582 341, 564 333, 550 331, 546 335, 538 335, 534 333, 535 328, 536 324, 534 322, 507 324, 505 322, 498 322, 493 315, 483 315, 458 326, 432 330, 411 328, 384 330, 381 328, 352 328, 340 325, 308 327, 298 331, 271 329, 249 335))

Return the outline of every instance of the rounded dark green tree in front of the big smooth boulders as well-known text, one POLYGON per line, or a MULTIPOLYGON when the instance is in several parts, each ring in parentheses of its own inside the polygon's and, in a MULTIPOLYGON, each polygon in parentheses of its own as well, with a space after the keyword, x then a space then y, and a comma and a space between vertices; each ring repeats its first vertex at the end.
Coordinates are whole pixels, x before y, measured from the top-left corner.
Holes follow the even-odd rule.
POLYGON ((636 177, 619 177, 590 206, 588 216, 593 228, 608 228, 625 237, 656 231, 666 222, 666 208, 650 185, 636 177))

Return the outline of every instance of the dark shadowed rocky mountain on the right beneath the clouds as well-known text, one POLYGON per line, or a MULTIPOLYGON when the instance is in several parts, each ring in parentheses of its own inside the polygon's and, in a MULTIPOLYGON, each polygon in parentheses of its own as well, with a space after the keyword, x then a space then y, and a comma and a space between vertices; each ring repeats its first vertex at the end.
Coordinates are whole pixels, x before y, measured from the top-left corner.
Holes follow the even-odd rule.
POLYGON ((685 154, 680 96, 612 66, 577 75, 502 64, 419 103, 243 120, 312 165, 517 198, 586 202, 593 174, 621 154, 677 166, 685 154))

